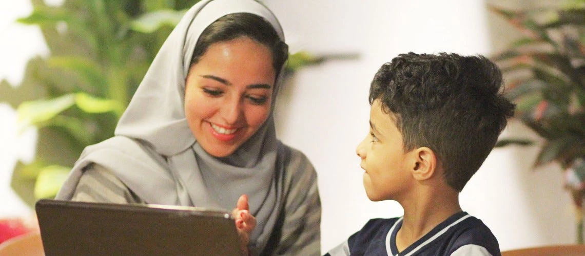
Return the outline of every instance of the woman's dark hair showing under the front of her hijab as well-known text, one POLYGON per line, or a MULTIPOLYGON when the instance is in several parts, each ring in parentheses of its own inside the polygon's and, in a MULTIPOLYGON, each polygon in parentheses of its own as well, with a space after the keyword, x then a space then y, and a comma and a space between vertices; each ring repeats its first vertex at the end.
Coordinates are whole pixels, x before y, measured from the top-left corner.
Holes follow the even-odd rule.
POLYGON ((269 22, 252 13, 231 13, 215 20, 205 28, 195 44, 191 65, 197 64, 212 44, 243 36, 264 44, 270 49, 272 65, 278 77, 280 69, 288 58, 288 45, 278 37, 276 30, 269 22))

